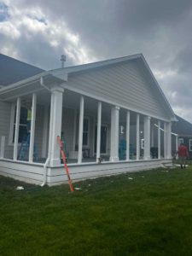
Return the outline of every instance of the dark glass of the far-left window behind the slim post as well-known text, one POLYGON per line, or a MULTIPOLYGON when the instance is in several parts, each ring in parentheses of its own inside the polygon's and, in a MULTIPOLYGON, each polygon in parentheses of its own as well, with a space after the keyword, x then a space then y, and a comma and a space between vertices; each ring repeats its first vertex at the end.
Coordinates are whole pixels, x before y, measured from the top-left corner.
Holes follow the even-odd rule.
MULTIPOLYGON (((13 133, 13 143, 15 141, 15 122, 16 122, 16 107, 15 107, 15 119, 14 119, 14 133, 13 133)), ((20 108, 20 131, 19 131, 19 143, 22 143, 23 138, 27 134, 27 109, 20 108)))

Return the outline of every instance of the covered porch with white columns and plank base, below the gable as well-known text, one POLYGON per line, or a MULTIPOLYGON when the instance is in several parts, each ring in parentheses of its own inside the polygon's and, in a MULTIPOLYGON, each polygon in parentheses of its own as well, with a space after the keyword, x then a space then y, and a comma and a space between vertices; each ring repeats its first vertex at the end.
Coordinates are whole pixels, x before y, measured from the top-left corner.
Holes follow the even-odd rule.
POLYGON ((10 109, 9 135, 1 135, 4 174, 49 185, 67 181, 58 135, 73 180, 171 163, 170 121, 70 90, 52 76, 25 84, 3 94, 10 109))

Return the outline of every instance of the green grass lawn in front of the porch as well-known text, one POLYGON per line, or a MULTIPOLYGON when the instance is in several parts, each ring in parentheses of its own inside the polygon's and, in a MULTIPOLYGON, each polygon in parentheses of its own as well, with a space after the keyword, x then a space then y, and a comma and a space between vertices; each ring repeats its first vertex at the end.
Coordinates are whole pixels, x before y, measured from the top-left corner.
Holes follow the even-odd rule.
POLYGON ((0 177, 0 255, 192 255, 191 167, 74 187, 0 177))

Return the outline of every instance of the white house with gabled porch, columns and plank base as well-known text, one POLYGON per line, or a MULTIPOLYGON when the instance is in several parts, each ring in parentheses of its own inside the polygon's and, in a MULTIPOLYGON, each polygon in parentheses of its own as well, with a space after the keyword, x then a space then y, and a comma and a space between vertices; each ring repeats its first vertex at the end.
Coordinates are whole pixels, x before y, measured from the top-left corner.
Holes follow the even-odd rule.
POLYGON ((3 87, 0 119, 0 174, 29 183, 67 181, 58 135, 73 181, 172 163, 176 118, 142 54, 50 70, 3 87), (30 145, 20 160, 27 109, 30 145))

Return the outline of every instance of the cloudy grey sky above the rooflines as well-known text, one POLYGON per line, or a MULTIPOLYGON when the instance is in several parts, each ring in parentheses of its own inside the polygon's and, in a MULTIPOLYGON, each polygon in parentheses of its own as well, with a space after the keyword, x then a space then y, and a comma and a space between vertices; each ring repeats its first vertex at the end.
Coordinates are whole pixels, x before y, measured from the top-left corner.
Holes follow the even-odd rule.
POLYGON ((0 0, 0 52, 46 70, 143 53, 192 122, 191 0, 0 0))

